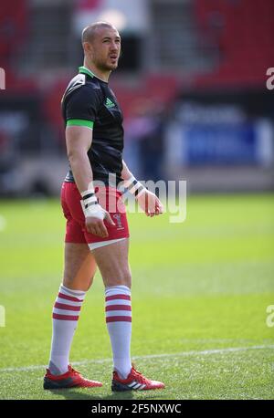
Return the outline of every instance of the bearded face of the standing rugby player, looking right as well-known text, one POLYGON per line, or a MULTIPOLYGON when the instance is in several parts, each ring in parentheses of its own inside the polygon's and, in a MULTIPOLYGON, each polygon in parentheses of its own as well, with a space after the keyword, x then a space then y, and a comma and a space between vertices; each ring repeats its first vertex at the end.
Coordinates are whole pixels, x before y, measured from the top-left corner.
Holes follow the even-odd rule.
POLYGON ((91 43, 92 60, 102 71, 118 67, 121 52, 121 37, 116 29, 100 28, 91 43))

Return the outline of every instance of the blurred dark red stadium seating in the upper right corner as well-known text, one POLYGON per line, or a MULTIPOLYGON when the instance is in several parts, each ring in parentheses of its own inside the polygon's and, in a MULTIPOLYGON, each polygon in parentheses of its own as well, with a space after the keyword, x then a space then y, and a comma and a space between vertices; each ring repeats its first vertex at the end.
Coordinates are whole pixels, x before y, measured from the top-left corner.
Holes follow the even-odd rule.
POLYGON ((198 76, 196 86, 262 86, 274 63, 274 2, 196 0, 195 16, 200 36, 211 39, 220 56, 219 68, 198 76))

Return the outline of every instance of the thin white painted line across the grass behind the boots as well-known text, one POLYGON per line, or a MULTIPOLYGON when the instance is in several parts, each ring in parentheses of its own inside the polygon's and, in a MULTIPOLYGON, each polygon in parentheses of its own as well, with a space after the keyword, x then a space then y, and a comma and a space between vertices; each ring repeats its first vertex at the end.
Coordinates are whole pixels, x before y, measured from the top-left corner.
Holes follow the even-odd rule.
MULTIPOLYGON (((274 349, 274 345, 258 345, 258 346, 251 346, 251 347, 230 347, 227 349, 216 349, 216 350, 202 350, 202 351, 182 351, 182 352, 174 352, 169 354, 151 354, 147 356, 134 356, 132 360, 138 359, 161 359, 162 357, 187 357, 187 356, 205 356, 208 354, 222 354, 227 352, 237 352, 237 351, 248 351, 248 350, 264 350, 264 349, 274 349)), ((98 360, 84 360, 84 361, 72 361, 74 366, 83 366, 85 364, 100 364, 112 361, 112 359, 98 359, 98 360)), ((7 372, 7 371, 35 371, 38 369, 45 369, 47 366, 45 365, 37 365, 37 366, 26 366, 26 367, 10 367, 6 369, 0 369, 0 372, 7 372)))

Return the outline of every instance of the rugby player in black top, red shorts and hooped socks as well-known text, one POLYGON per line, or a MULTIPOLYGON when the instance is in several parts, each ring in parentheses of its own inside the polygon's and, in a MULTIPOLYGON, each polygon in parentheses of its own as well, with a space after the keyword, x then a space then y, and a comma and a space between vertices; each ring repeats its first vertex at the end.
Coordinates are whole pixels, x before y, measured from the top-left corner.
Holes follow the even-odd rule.
POLYGON ((108 85, 121 52, 117 29, 106 22, 87 26, 82 45, 84 66, 72 78, 62 99, 70 164, 61 192, 67 218, 65 268, 53 308, 53 336, 44 389, 102 385, 83 378, 68 361, 79 311, 96 266, 105 286, 106 323, 113 354, 112 391, 162 389, 161 381, 145 378, 132 366, 129 229, 117 186, 123 182, 149 216, 162 214, 163 206, 122 160, 122 114, 108 85), (110 183, 110 174, 114 185, 110 183))

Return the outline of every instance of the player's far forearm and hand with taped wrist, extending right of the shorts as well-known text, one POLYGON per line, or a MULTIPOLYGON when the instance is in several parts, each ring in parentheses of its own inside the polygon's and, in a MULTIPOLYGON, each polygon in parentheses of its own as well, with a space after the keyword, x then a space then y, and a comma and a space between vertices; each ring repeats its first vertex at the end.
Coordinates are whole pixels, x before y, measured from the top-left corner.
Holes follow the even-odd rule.
POLYGON ((122 161, 121 178, 129 192, 135 194, 139 206, 147 216, 153 217, 155 214, 163 214, 163 204, 160 199, 135 179, 124 161, 122 161))

